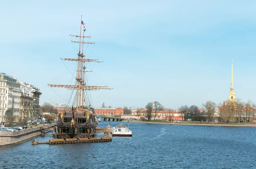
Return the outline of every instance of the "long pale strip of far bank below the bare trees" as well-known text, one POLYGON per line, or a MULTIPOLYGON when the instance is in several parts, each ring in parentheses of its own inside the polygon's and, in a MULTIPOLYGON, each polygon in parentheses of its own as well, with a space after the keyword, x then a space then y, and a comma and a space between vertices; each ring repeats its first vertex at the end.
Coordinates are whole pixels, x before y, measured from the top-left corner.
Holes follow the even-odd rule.
POLYGON ((189 126, 221 126, 221 127, 256 127, 256 124, 215 124, 215 123, 183 123, 183 122, 151 122, 151 121, 130 121, 131 123, 145 124, 167 124, 167 125, 189 125, 189 126))

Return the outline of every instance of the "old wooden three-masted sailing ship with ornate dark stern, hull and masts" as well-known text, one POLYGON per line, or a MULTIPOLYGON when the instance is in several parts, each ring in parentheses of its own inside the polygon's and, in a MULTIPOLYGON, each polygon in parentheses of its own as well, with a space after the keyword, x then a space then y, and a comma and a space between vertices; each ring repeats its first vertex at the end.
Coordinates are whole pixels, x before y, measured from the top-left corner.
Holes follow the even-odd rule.
POLYGON ((75 61, 78 62, 77 74, 76 74, 76 84, 75 85, 52 85, 48 84, 49 87, 63 87, 68 90, 76 90, 76 107, 61 112, 59 114, 58 122, 55 124, 56 136, 58 138, 91 138, 96 134, 97 118, 94 113, 93 107, 91 105, 85 105, 84 99, 86 99, 86 90, 111 90, 113 88, 108 88, 108 86, 89 86, 86 84, 86 72, 92 72, 85 70, 85 62, 101 62, 98 59, 86 59, 84 52, 84 44, 94 44, 94 42, 85 42, 84 38, 90 38, 84 36, 85 26, 82 21, 80 24, 80 35, 70 35, 71 37, 79 38, 79 41, 72 41, 74 43, 79 43, 79 53, 77 58, 61 58, 65 61, 75 61), (83 34, 82 26, 84 28, 83 34))

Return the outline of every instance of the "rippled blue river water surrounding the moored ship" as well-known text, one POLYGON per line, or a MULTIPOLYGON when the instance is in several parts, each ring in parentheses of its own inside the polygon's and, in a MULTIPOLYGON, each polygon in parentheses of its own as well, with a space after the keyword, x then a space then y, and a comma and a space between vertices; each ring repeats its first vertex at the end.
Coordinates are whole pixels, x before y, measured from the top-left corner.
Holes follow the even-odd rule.
MULTIPOLYGON (((127 122, 111 121, 111 126, 127 122)), ((106 127, 102 122, 99 127, 106 127)), ((254 127, 129 123, 131 138, 89 144, 0 146, 1 169, 255 169, 254 127)), ((50 133, 47 133, 50 134, 50 133)), ((98 135, 100 138, 102 135, 98 135)), ((49 141, 49 135, 37 137, 49 141)))

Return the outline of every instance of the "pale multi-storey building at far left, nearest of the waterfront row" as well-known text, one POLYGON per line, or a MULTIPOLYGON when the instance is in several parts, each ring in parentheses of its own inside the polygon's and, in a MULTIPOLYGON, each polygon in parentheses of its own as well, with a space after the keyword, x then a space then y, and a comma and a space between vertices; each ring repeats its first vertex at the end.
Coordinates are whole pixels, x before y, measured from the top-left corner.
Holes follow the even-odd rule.
POLYGON ((19 117, 20 84, 13 76, 0 72, 0 122, 19 117))

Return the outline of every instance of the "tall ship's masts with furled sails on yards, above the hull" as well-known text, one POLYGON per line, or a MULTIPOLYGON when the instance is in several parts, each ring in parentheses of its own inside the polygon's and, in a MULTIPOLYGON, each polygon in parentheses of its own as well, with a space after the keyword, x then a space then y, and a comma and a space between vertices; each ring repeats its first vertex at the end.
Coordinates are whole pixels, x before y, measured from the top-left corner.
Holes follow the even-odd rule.
POLYGON ((87 71, 85 70, 84 62, 101 62, 98 61, 98 59, 85 59, 84 58, 84 44, 94 44, 94 42, 84 42, 84 38, 90 38, 87 36, 84 36, 84 31, 83 31, 83 36, 81 36, 81 30, 82 30, 82 25, 84 23, 82 22, 82 16, 81 16, 81 23, 80 23, 80 36, 78 35, 70 35, 71 37, 79 37, 79 42, 77 41, 71 41, 74 43, 79 43, 79 53, 78 59, 72 59, 72 58, 61 58, 61 60, 67 60, 67 61, 77 61, 78 62, 78 68, 77 68, 77 85, 52 85, 48 84, 49 87, 64 87, 70 90, 77 90, 76 92, 76 112, 78 112, 79 107, 84 106, 84 90, 100 90, 100 89, 107 89, 111 90, 112 88, 108 88, 108 86, 87 86, 85 82, 85 72, 92 72, 92 71, 87 71), (82 38, 82 41, 81 41, 82 38), (82 51, 81 51, 82 47, 82 51))

